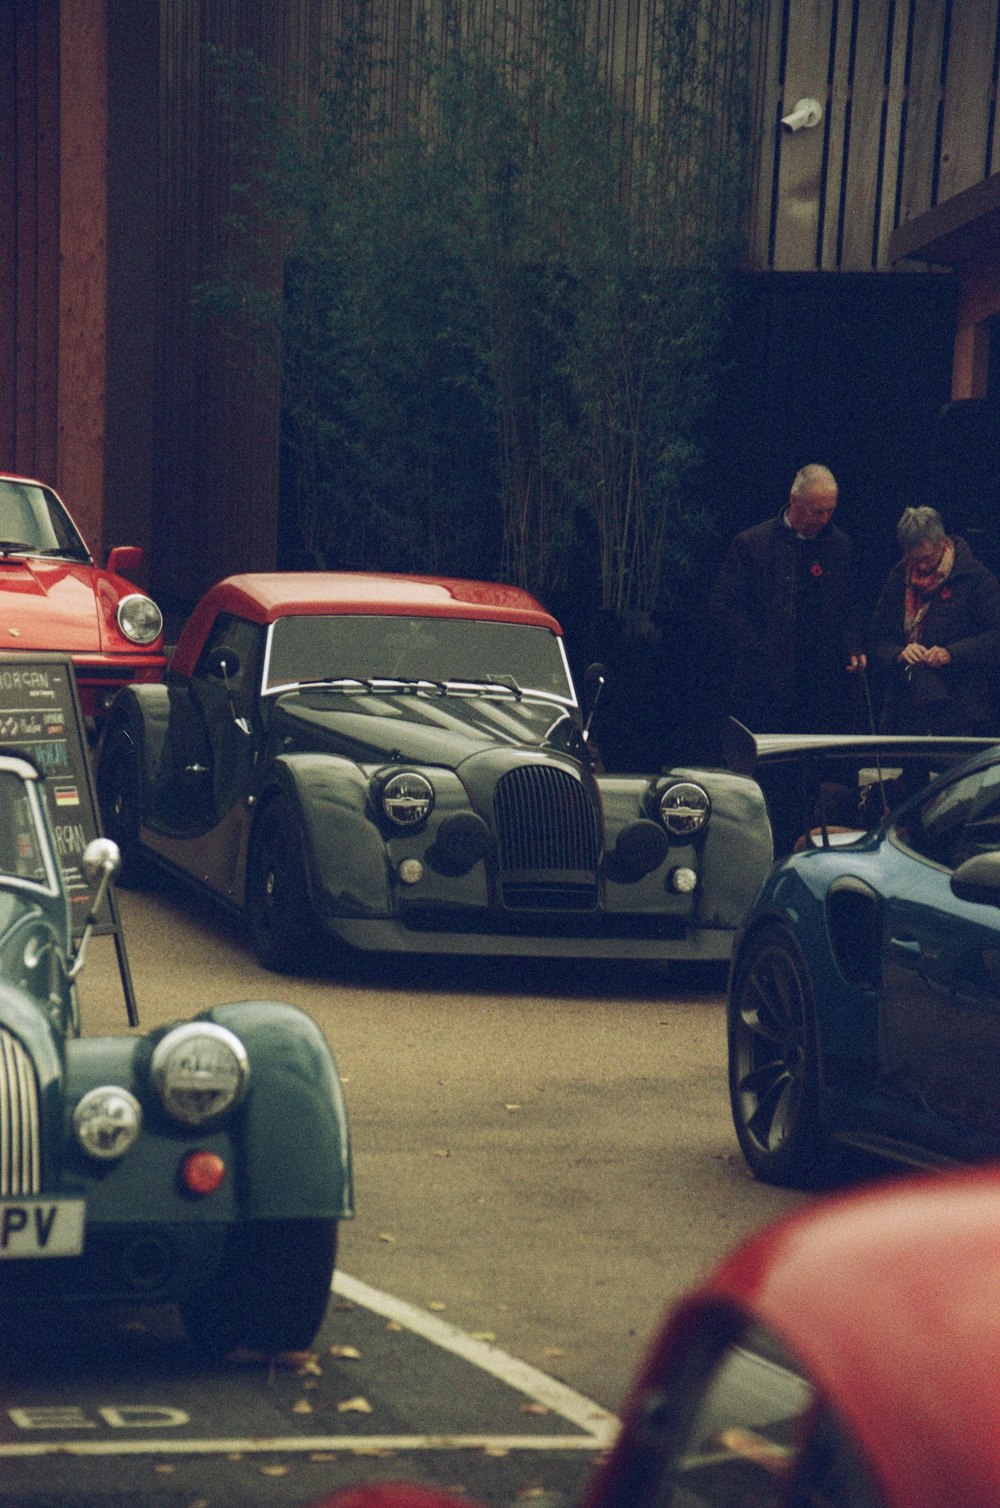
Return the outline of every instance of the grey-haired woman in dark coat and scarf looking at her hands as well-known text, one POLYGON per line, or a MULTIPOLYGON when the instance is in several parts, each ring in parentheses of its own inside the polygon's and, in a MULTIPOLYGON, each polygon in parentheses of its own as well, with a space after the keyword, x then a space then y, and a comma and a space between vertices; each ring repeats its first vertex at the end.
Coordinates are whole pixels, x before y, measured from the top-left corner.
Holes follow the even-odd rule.
POLYGON ((872 618, 884 733, 998 731, 1000 582, 937 508, 905 508, 872 618))

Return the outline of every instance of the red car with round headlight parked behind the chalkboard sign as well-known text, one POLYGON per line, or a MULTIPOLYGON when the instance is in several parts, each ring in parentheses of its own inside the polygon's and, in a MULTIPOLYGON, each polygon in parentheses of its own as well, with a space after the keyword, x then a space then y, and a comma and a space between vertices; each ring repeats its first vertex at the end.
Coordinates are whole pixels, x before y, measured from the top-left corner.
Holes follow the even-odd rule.
POLYGON ((166 667, 160 609, 127 581, 142 564, 142 549, 119 546, 101 570, 51 487, 0 477, 0 653, 69 654, 98 724, 122 686, 166 667))

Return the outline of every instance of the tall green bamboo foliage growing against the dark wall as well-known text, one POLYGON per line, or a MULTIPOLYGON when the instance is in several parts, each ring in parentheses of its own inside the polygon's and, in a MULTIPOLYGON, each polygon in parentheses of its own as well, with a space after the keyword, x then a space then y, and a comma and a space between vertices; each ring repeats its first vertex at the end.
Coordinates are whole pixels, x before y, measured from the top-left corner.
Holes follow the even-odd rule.
POLYGON ((640 110, 572 0, 445 6, 436 35, 413 9, 388 57, 357 0, 285 107, 217 59, 243 176, 204 300, 281 350, 305 558, 558 600, 582 526, 603 606, 670 606, 709 522, 685 490, 742 246, 748 0, 724 35, 665 0, 640 110))

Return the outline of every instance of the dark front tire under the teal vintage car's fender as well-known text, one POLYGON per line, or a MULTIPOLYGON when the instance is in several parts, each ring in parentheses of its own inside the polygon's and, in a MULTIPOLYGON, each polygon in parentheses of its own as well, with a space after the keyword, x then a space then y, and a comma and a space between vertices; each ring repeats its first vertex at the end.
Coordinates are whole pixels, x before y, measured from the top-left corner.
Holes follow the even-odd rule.
POLYGON ((234 1226, 214 1280, 181 1303, 192 1344, 210 1357, 309 1347, 330 1297, 336 1234, 336 1220, 234 1226))

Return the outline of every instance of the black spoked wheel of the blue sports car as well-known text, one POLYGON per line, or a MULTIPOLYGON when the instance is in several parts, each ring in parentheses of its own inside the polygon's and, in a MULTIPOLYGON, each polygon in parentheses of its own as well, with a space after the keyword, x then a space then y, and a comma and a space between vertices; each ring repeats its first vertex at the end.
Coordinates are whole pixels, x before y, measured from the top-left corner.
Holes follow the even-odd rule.
POLYGON ((831 1172, 819 1117, 813 988, 802 950, 784 927, 757 932, 736 962, 729 1087, 736 1136, 757 1178, 802 1187, 831 1172))

